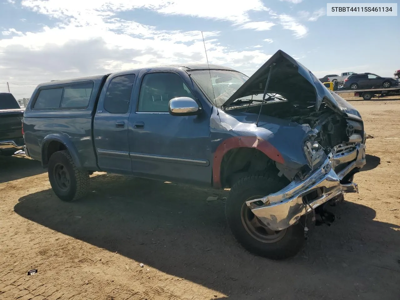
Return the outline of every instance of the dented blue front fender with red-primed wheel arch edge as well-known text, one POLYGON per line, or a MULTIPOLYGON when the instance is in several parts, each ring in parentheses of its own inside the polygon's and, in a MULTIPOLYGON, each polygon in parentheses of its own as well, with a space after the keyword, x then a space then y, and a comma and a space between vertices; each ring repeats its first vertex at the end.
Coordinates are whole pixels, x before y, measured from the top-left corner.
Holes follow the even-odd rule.
POLYGON ((213 184, 220 187, 221 163, 224 155, 235 148, 255 148, 274 162, 290 169, 300 170, 307 164, 302 150, 304 140, 312 130, 294 122, 260 116, 256 126, 254 114, 213 109, 210 132, 213 157, 213 184), (218 114, 217 114, 218 112, 218 114))

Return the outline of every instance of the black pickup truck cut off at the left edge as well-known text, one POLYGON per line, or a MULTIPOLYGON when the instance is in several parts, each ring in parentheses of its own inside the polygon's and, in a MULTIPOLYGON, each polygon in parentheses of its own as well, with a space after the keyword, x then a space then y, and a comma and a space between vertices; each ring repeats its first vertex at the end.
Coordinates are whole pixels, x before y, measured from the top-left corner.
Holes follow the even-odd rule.
POLYGON ((11 156, 24 147, 24 110, 10 93, 0 93, 0 155, 11 156))

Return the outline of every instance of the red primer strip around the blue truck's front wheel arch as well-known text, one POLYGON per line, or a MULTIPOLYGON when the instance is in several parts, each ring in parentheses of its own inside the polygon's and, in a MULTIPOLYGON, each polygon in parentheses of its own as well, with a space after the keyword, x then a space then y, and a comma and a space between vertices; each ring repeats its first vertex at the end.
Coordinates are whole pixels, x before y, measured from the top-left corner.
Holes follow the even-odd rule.
POLYGON ((231 149, 235 148, 256 148, 263 152, 266 156, 284 164, 282 155, 274 146, 257 136, 233 136, 222 142, 214 153, 214 161, 212 164, 212 180, 215 188, 221 187, 221 162, 222 158, 231 149))

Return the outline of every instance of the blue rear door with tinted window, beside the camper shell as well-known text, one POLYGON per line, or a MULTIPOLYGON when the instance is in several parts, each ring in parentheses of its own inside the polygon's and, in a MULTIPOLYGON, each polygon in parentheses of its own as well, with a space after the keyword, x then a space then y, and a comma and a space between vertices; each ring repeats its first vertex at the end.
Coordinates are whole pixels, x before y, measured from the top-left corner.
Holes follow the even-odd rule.
POLYGON ((108 78, 99 98, 93 122, 93 135, 98 166, 106 172, 132 172, 128 118, 135 78, 135 74, 108 78))

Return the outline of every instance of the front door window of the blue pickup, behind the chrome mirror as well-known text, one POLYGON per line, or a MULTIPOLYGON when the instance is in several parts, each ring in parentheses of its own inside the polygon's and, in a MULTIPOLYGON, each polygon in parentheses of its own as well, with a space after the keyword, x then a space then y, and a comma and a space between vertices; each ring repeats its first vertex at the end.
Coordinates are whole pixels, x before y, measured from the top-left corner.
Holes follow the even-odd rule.
POLYGON ((168 102, 176 97, 195 99, 178 74, 146 74, 140 87, 138 112, 168 112, 168 102))

